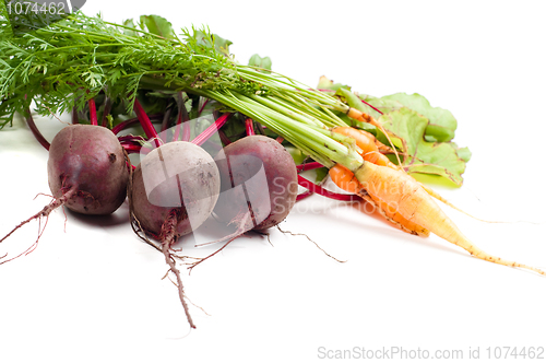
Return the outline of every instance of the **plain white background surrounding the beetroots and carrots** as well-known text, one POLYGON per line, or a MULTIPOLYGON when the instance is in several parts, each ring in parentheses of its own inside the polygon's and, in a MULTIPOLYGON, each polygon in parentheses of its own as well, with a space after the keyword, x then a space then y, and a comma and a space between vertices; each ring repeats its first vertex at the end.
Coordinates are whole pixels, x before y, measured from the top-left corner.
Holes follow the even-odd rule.
MULTIPOLYGON (((455 141, 473 152, 462 188, 428 182, 467 212, 511 223, 444 210, 483 249, 546 268, 543 2, 90 0, 84 10, 207 24, 239 61, 270 56, 274 70, 310 85, 324 74, 376 96, 425 95, 454 114, 455 141)), ((38 127, 51 140, 63 125, 38 127)), ((0 131, 0 235, 49 201, 33 200, 49 192, 47 156, 23 121, 0 131)), ((282 227, 348 261, 302 236, 272 231, 273 246, 241 237, 185 276, 189 298, 210 314, 191 306, 198 328, 188 335, 163 256, 127 220, 126 206, 109 218, 59 210, 34 253, 0 266, 1 362, 314 362, 324 361, 320 347, 465 358, 479 348, 486 361, 487 347, 546 346, 545 278, 318 196, 282 227)), ((36 233, 26 225, 0 255, 36 233)))

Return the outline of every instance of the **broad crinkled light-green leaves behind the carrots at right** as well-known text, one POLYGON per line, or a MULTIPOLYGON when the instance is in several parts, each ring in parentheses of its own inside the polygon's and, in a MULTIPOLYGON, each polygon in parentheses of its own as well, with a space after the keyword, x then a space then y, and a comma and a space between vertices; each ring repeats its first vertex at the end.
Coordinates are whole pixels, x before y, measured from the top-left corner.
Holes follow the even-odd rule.
MULTIPOLYGON (((376 117, 394 136, 393 142, 401 152, 402 165, 408 173, 439 175, 458 186, 462 185, 462 174, 471 152, 467 148, 459 148, 450 142, 455 133, 456 120, 449 110, 430 106, 424 96, 416 93, 396 93, 383 97, 359 95, 352 92, 351 87, 334 84, 325 78, 320 80, 319 87, 335 91, 352 107, 376 117)), ((355 126, 364 126, 361 128, 389 144, 379 130, 371 130, 368 125, 355 126)))

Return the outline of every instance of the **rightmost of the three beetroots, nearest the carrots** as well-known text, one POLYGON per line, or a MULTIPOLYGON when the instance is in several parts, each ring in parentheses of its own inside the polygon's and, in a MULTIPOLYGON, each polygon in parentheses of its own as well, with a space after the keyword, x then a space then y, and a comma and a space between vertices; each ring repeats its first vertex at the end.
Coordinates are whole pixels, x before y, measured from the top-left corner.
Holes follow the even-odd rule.
POLYGON ((248 230, 263 231, 281 223, 296 202, 298 182, 292 155, 274 139, 248 136, 216 156, 222 192, 214 209, 230 222, 249 212, 248 230))

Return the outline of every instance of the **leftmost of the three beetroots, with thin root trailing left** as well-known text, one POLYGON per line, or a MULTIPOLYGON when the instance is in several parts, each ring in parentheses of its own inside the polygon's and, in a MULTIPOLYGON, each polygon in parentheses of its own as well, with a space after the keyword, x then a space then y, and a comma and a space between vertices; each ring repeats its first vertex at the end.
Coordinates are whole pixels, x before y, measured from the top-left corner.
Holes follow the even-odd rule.
MULTIPOLYGON (((84 214, 109 214, 126 199, 129 182, 126 154, 116 136, 106 128, 73 125, 60 130, 51 141, 47 169, 54 200, 0 242, 35 219, 47 219, 61 206, 84 214)), ((14 258, 33 250, 37 242, 14 258)))

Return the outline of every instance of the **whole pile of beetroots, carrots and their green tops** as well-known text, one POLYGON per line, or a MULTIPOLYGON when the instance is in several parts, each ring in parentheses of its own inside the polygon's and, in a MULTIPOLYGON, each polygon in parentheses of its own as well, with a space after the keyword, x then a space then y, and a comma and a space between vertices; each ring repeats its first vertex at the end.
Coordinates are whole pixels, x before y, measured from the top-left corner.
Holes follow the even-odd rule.
POLYGON ((210 241, 223 242, 221 250, 277 225, 311 194, 364 200, 405 232, 546 274, 479 249, 434 199, 447 201, 410 175, 461 185, 471 155, 452 142, 451 113, 418 94, 373 97, 324 77, 312 89, 274 73, 268 58, 238 63, 230 42, 206 28, 178 36, 155 15, 112 24, 76 13, 33 32, 1 28, 1 126, 26 117, 49 150, 54 200, 0 242, 55 208, 108 214, 129 197, 132 227, 165 255, 191 327, 175 242, 214 216, 233 229, 210 241), (74 125, 49 144, 31 108, 71 113, 74 125), (300 174, 309 169, 321 177, 300 174), (322 187, 327 175, 336 190, 322 187), (298 185, 308 191, 298 195, 298 185))

